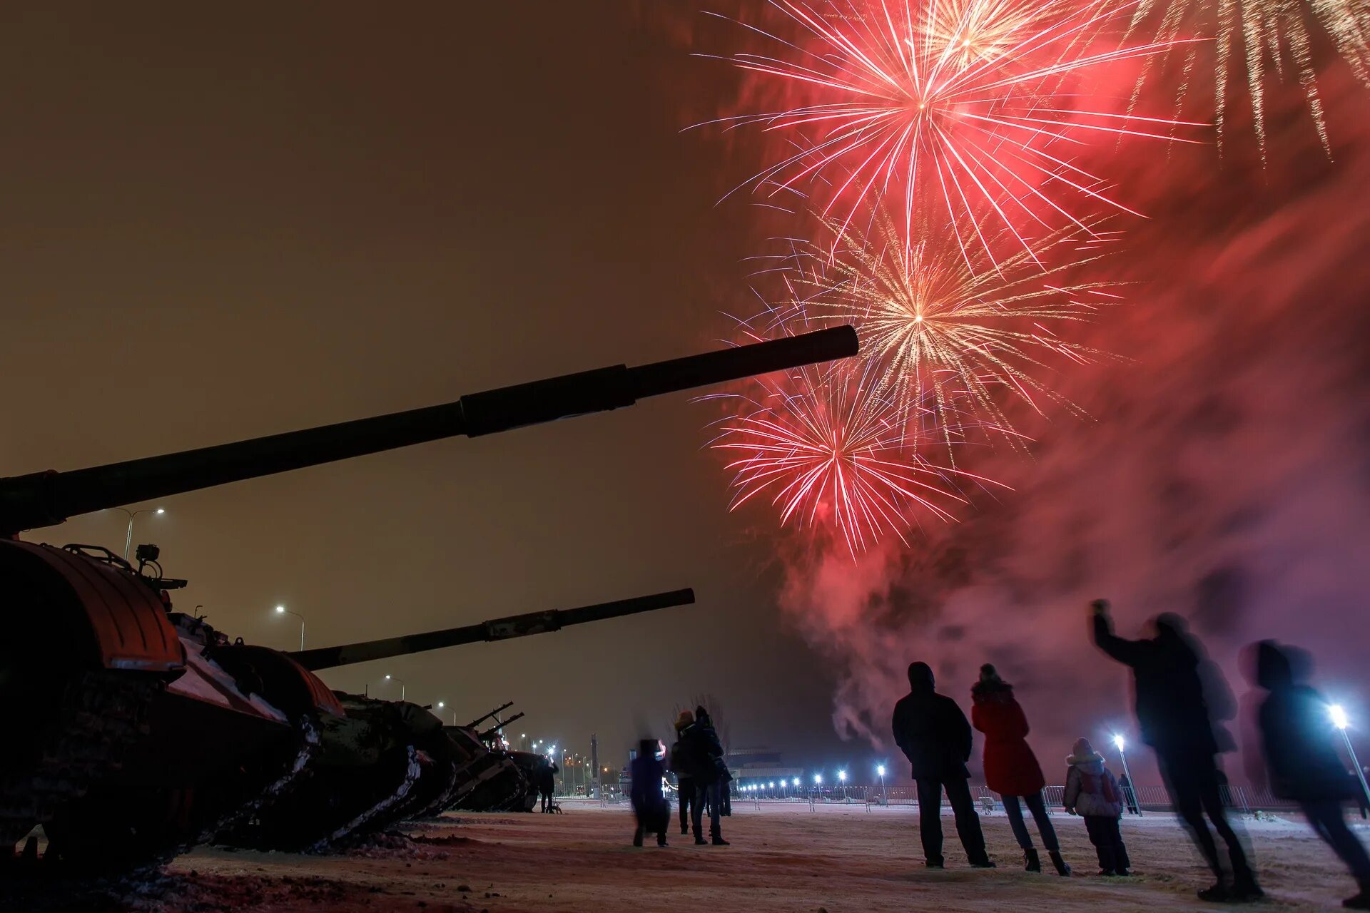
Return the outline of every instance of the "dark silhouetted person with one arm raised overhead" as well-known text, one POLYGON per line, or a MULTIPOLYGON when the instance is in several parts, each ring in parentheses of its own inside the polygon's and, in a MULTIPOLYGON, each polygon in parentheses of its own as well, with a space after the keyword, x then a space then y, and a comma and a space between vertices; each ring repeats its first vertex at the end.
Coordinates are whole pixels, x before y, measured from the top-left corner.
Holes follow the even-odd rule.
POLYGON ((1132 667, 1141 741, 1155 749, 1175 813, 1217 879, 1212 887, 1199 891, 1199 899, 1258 899, 1263 892, 1223 812, 1218 738, 1204 699, 1201 657, 1191 645, 1180 616, 1160 615, 1155 627, 1152 639, 1125 641, 1112 632, 1107 600, 1093 602, 1095 643, 1114 660, 1132 667), (1212 831, 1204 821, 1206 813, 1212 831, 1228 845, 1230 882, 1212 831))

